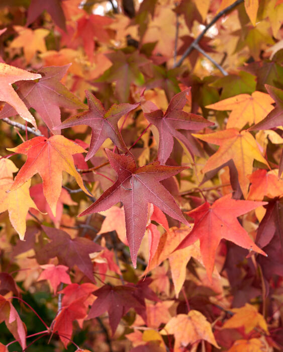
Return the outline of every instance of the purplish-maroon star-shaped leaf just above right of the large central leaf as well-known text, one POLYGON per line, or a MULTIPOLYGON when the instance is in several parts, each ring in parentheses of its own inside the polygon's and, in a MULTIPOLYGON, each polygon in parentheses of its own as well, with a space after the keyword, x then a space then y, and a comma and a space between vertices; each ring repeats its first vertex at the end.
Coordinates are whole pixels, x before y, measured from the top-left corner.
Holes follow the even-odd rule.
POLYGON ((196 131, 213 125, 212 122, 207 121, 202 116, 182 111, 189 92, 190 89, 187 89, 176 94, 171 99, 165 114, 161 110, 144 113, 146 119, 158 129, 158 160, 161 164, 165 164, 170 156, 174 144, 173 137, 179 139, 193 155, 190 140, 178 130, 196 131))

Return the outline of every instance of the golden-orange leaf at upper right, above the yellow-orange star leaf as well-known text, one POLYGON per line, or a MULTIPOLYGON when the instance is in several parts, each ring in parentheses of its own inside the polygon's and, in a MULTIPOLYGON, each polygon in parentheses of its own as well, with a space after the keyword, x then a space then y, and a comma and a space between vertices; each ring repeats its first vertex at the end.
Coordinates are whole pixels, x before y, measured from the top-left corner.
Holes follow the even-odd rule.
POLYGON ((253 92, 250 95, 238 96, 221 100, 218 103, 207 105, 207 109, 220 111, 232 110, 226 128, 242 129, 247 123, 258 123, 273 109, 273 99, 266 93, 253 92))

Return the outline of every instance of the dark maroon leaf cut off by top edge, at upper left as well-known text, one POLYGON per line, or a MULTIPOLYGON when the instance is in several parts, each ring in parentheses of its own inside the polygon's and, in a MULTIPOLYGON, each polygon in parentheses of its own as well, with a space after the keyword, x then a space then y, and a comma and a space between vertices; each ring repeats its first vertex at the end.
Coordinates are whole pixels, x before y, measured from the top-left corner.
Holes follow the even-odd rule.
POLYGON ((27 26, 33 23, 44 10, 50 14, 58 27, 62 28, 64 31, 66 30, 61 0, 48 0, 46 2, 42 0, 32 0, 28 9, 27 26))

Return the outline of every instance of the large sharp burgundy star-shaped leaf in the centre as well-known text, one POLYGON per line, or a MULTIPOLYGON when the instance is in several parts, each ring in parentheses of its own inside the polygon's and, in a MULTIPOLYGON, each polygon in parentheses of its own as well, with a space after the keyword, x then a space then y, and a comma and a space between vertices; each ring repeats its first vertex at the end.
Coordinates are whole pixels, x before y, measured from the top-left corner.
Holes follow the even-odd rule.
POLYGON ((160 165, 159 161, 138 167, 131 156, 118 155, 106 149, 111 166, 118 174, 115 184, 79 216, 98 213, 122 202, 125 210, 127 240, 133 265, 145 233, 147 204, 152 203, 164 213, 184 224, 187 221, 170 193, 160 184, 186 167, 160 165))

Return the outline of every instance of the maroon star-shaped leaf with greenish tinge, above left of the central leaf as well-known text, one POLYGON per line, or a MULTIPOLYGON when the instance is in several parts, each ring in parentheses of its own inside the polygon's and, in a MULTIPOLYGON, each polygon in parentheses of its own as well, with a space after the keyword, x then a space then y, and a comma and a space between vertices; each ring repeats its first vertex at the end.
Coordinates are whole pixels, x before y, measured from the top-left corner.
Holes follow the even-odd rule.
POLYGON ((118 128, 118 121, 123 115, 134 110, 139 104, 113 104, 112 107, 106 111, 101 102, 93 94, 85 91, 85 95, 89 110, 71 116, 61 125, 57 126, 56 129, 77 125, 88 125, 91 127, 91 140, 85 160, 95 155, 107 138, 110 138, 112 142, 123 151, 127 151, 128 149, 118 128))

